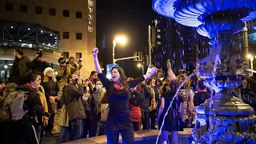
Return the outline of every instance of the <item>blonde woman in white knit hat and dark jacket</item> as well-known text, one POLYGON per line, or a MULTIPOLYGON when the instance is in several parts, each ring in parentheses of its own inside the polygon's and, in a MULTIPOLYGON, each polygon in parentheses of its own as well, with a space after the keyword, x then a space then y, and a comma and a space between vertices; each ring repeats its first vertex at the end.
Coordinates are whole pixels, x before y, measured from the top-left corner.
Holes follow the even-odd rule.
POLYGON ((54 77, 54 70, 51 67, 47 67, 43 74, 42 87, 45 90, 48 112, 50 113, 48 126, 46 126, 44 130, 46 136, 53 136, 52 130, 54 129, 54 116, 57 112, 56 101, 58 98, 59 87, 57 79, 54 77))

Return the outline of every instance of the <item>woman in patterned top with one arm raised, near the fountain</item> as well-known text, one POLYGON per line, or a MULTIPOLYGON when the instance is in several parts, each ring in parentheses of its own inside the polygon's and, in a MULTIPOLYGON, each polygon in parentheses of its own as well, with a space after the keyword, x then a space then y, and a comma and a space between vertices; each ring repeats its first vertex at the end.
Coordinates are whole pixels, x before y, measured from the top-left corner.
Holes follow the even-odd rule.
MULTIPOLYGON (((182 83, 186 80, 185 74, 179 74, 177 77, 174 74, 173 70, 171 69, 170 59, 167 60, 166 66, 168 69, 168 76, 170 78, 170 81, 177 79, 178 80, 178 86, 181 86, 182 83)), ((182 103, 182 110, 183 110, 183 118, 184 118, 184 128, 190 127, 190 121, 193 118, 193 110, 194 110, 194 92, 191 89, 190 82, 187 80, 182 86, 181 90, 178 91, 178 95, 182 97, 183 103, 182 103)), ((192 120, 193 121, 193 120, 192 120)), ((191 122, 192 122, 191 121, 191 122)))

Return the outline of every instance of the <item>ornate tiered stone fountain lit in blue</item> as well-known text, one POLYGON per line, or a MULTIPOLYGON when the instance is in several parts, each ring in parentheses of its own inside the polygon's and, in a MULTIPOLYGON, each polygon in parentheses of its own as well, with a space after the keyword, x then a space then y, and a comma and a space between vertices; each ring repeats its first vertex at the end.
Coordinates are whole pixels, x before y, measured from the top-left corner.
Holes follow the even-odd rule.
POLYGON ((231 38, 256 18, 256 0, 153 0, 153 8, 210 38, 210 54, 202 59, 199 73, 217 94, 197 108, 194 142, 256 143, 254 110, 231 94, 242 85, 247 69, 231 38))

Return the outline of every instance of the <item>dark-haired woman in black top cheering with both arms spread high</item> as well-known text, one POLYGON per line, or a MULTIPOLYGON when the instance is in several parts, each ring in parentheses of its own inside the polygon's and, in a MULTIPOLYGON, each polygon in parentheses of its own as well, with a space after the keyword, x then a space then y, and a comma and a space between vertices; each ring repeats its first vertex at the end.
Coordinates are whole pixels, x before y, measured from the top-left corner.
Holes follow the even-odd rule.
POLYGON ((152 68, 150 74, 145 74, 140 78, 126 82, 126 75, 121 67, 114 66, 111 69, 111 80, 102 74, 98 63, 98 48, 92 51, 94 55, 94 65, 101 79, 103 86, 106 87, 106 94, 109 102, 109 114, 106 120, 106 136, 108 144, 118 144, 118 136, 121 133, 122 143, 134 143, 134 126, 130 118, 129 95, 130 88, 137 86, 138 83, 152 77, 157 72, 157 68, 152 68))

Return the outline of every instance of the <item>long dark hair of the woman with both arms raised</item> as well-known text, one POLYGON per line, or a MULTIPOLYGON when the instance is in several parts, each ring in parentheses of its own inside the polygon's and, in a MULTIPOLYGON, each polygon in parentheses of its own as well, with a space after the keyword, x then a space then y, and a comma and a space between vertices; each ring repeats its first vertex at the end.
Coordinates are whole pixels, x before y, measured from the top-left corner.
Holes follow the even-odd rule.
MULTIPOLYGON (((123 86, 124 90, 126 90, 129 93, 130 92, 130 86, 126 82, 126 74, 125 74, 125 72, 122 70, 121 67, 118 67, 118 66, 112 67, 111 72, 114 69, 117 69, 118 73, 120 74, 120 85, 123 86)), ((114 86, 111 86, 110 87, 110 95, 112 94, 113 90, 114 90, 114 86)))

